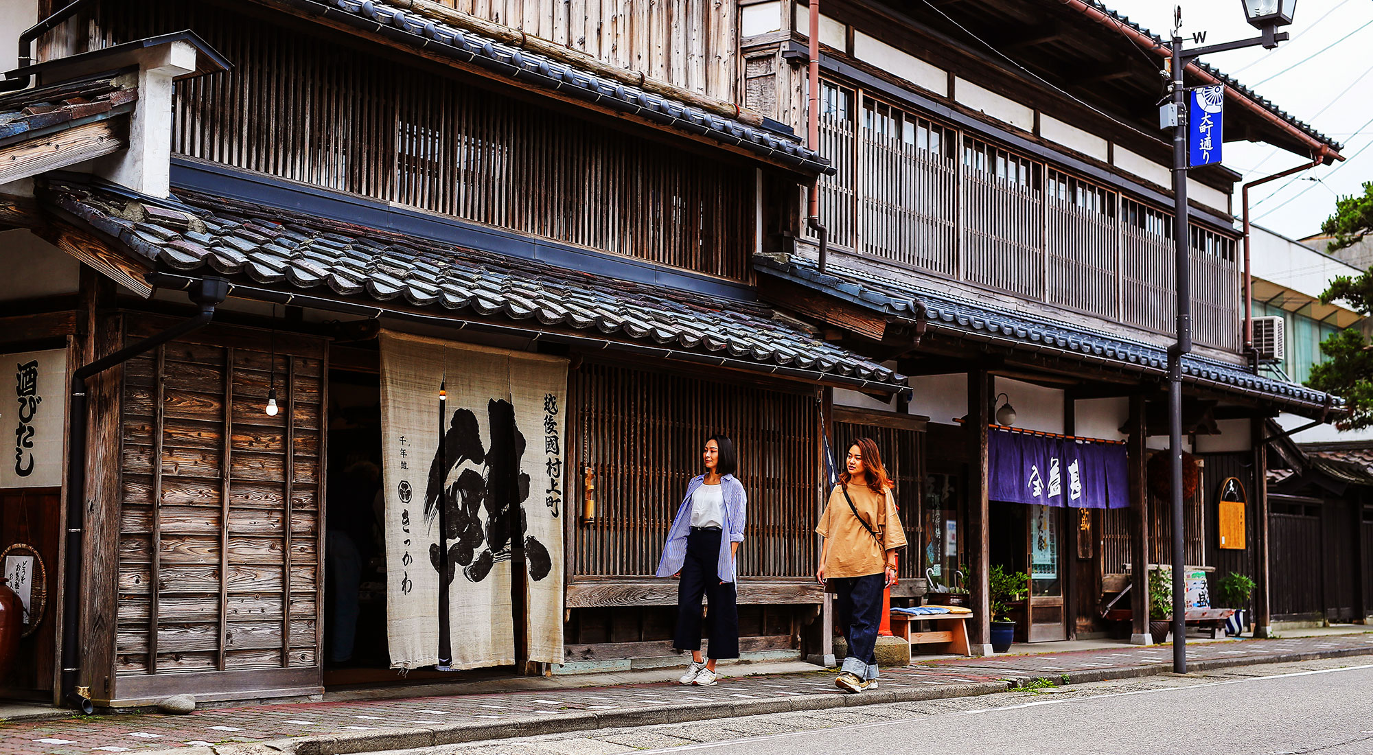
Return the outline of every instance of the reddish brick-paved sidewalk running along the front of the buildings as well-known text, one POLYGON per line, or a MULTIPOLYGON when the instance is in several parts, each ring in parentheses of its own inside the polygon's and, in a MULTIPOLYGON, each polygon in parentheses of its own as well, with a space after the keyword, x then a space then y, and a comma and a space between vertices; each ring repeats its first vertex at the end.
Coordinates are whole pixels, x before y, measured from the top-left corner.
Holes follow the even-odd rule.
MULTIPOLYGON (((1373 655, 1373 633, 1237 640, 1188 645, 1195 670, 1373 655)), ((1057 653, 941 658, 884 669, 880 688, 842 695, 832 670, 724 678, 710 688, 676 681, 600 688, 346 700, 214 708, 191 715, 111 714, 0 725, 0 755, 183 755, 286 751, 335 755, 428 747, 486 739, 671 723, 735 715, 928 700, 1001 692, 1032 678, 1079 684, 1171 670, 1168 645, 1057 653), (253 745, 259 747, 253 747, 253 745), (214 751, 210 748, 214 745, 214 751), (265 745, 265 747, 264 747, 265 745)), ((747 673, 747 666, 730 671, 747 673)), ((663 670, 674 680, 678 671, 663 670)))

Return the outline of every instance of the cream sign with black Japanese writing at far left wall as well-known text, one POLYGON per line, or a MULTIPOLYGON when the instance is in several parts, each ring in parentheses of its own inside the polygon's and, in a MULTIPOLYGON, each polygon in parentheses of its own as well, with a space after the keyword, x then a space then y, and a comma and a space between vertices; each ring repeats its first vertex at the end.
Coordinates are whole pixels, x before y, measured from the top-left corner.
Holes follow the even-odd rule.
POLYGON ((5 354, 0 375, 0 424, 12 453, 0 458, 0 487, 62 485, 62 434, 66 426, 67 353, 65 349, 5 354))

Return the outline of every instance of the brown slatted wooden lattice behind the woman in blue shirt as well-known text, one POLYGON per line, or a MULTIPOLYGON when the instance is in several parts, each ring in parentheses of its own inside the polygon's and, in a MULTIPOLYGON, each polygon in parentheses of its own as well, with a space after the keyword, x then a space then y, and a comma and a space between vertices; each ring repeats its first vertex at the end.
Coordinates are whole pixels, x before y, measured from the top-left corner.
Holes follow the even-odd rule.
POLYGON ((573 372, 571 390, 578 410, 571 458, 578 472, 593 469, 597 504, 593 523, 573 524, 574 578, 654 574, 714 432, 733 438, 748 494, 740 575, 813 572, 820 483, 813 394, 596 364, 573 372))

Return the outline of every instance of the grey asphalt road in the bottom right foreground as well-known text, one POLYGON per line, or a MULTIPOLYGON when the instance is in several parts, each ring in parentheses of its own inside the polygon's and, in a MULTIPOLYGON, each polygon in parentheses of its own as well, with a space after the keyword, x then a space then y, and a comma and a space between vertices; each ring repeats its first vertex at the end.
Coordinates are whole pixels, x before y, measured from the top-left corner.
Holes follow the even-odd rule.
POLYGON ((1361 660, 605 729, 406 755, 1369 755, 1373 663, 1361 660))

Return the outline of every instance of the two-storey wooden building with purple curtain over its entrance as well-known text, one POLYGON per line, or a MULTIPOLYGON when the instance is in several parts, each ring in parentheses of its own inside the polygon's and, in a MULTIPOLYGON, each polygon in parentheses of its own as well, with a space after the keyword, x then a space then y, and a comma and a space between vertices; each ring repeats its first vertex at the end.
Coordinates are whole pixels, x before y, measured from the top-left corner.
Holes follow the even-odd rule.
MULTIPOLYGON (((1028 575, 1020 640, 1116 631, 1149 641, 1145 574, 1173 561, 1166 485, 1151 483, 1146 465, 1167 445, 1177 310, 1171 151, 1153 107, 1167 44, 1090 0, 825 0, 813 21, 814 10, 743 8, 746 104, 800 129, 816 96, 818 144, 835 166, 754 266, 766 299, 880 340, 869 353, 912 376, 909 401, 833 397, 844 406, 838 445, 901 427, 886 437, 913 457, 903 476, 924 480, 902 494, 921 544, 906 555, 902 574, 913 579, 902 590, 969 585, 986 642, 982 575, 1002 566, 1028 575), (1011 435, 1012 446, 1046 434, 1071 437, 1070 456, 1124 443, 1127 505, 1064 505, 1070 496, 1052 491, 1038 498, 1049 505, 1005 502, 1016 498, 1012 471, 998 467, 997 442, 989 452, 989 432, 1005 437, 998 421, 1032 432, 1011 435), (1111 620, 1119 608, 1133 626, 1111 620)), ((1225 141, 1267 141, 1313 165, 1340 159, 1339 144, 1215 69, 1193 63, 1186 77, 1225 86, 1225 141)), ((1184 419, 1199 483, 1182 566, 1258 579, 1262 634, 1267 509, 1254 471, 1269 441, 1263 420, 1278 410, 1330 419, 1339 399, 1254 369, 1238 174, 1219 165, 1189 173, 1197 347, 1184 362, 1184 419), (1229 478, 1249 496, 1238 515, 1225 507, 1221 516, 1229 478)), ((1022 489, 1035 489, 1031 475, 1059 456, 1027 467, 1022 489)))

